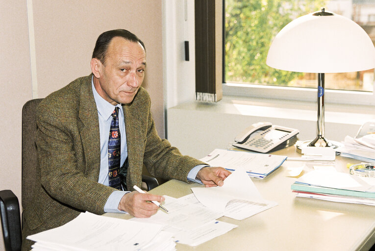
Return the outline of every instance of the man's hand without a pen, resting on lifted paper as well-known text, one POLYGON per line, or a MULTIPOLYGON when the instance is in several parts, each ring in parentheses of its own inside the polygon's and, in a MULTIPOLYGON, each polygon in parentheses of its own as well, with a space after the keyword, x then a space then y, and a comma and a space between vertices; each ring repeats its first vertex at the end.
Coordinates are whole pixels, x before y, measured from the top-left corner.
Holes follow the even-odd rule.
POLYGON ((222 167, 203 167, 197 174, 197 178, 202 181, 206 187, 222 186, 223 180, 231 173, 222 167))

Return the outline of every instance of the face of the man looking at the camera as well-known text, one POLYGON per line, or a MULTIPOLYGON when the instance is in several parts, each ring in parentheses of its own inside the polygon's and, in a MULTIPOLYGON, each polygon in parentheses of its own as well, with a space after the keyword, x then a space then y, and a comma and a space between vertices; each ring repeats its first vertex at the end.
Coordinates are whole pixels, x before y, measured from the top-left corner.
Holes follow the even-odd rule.
POLYGON ((146 68, 146 52, 140 43, 114 37, 108 45, 105 64, 95 58, 91 61, 94 86, 104 100, 116 105, 134 99, 146 68))

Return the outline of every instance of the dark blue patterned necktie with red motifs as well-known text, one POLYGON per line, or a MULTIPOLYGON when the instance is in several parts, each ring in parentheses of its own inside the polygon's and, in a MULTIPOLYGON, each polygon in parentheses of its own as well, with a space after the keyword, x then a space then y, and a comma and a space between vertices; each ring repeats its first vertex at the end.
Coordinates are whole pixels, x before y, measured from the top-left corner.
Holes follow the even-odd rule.
POLYGON ((108 181, 109 186, 122 190, 120 179, 121 135, 119 128, 119 107, 112 112, 108 140, 108 181))

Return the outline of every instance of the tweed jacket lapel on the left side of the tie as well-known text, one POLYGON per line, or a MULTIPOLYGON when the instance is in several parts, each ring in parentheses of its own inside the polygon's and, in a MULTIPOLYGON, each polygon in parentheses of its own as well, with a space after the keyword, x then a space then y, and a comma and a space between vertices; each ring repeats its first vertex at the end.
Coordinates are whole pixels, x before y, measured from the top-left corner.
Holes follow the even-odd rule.
POLYGON ((98 109, 91 88, 92 74, 84 79, 79 96, 80 136, 86 160, 85 175, 98 181, 100 172, 100 132, 98 109))

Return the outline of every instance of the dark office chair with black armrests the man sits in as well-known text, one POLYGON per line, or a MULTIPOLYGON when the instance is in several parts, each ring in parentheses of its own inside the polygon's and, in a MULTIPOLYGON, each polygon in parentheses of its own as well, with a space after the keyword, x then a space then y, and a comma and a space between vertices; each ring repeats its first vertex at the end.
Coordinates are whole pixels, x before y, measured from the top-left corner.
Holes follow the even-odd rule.
MULTIPOLYGON (((35 145, 36 108, 43 99, 29 100, 22 108, 22 207, 27 208, 34 198, 34 186, 40 183, 38 153, 35 145)), ((142 175, 147 190, 159 185, 154 177, 142 175)), ((17 197, 11 190, 0 191, 0 216, 5 251, 21 250, 21 219, 17 197)))

